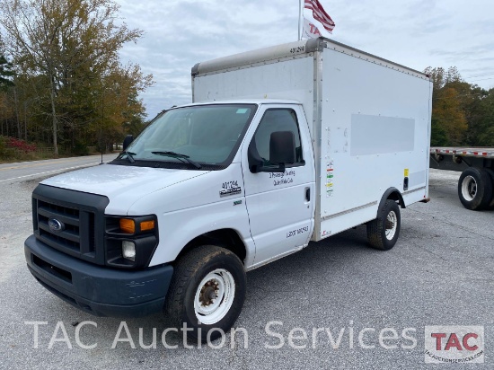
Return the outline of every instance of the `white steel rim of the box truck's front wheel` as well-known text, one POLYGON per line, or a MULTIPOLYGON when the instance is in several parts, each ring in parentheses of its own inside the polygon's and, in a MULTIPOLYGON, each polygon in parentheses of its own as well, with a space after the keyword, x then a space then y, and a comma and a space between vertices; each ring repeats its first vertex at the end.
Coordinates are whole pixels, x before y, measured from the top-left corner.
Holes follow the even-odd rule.
POLYGON ((221 321, 234 304, 235 280, 225 269, 215 269, 198 285, 194 313, 199 323, 212 325, 221 321))

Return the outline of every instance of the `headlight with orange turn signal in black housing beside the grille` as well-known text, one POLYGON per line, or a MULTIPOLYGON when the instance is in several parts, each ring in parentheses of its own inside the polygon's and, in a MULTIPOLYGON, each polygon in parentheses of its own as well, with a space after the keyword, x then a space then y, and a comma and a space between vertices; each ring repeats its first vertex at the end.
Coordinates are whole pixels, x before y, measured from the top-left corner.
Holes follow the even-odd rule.
POLYGON ((156 216, 106 217, 107 265, 134 269, 147 267, 157 245, 156 216))

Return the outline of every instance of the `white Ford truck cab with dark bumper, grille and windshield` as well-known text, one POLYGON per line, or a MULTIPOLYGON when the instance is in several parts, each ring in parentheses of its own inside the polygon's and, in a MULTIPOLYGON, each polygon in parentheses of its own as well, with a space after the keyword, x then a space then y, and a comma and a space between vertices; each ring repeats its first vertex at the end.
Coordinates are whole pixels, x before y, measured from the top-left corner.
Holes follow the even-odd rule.
MULTIPOLYGON (((229 290, 243 302, 244 271, 308 244, 313 191, 299 103, 172 109, 114 161, 40 183, 28 267, 86 312, 139 316, 163 310, 177 261, 214 246, 234 260, 241 281, 229 290)), ((228 278, 216 280, 225 286, 228 278)))

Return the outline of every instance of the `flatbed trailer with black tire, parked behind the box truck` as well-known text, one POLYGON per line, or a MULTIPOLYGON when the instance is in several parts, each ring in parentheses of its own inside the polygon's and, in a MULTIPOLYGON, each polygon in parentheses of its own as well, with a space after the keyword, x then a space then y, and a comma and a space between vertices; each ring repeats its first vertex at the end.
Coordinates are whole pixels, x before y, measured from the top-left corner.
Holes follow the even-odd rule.
POLYGON ((494 209, 494 148, 431 147, 429 167, 462 172, 458 197, 463 207, 494 209))

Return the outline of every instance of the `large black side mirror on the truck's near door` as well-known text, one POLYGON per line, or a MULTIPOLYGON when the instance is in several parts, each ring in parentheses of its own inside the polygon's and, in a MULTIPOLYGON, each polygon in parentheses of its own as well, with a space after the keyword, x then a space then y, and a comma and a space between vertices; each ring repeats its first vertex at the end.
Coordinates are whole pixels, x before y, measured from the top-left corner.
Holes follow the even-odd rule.
POLYGON ((247 150, 249 170, 258 172, 285 172, 286 163, 296 162, 295 136, 291 131, 272 132, 269 137, 269 164, 257 151, 255 140, 247 150))

